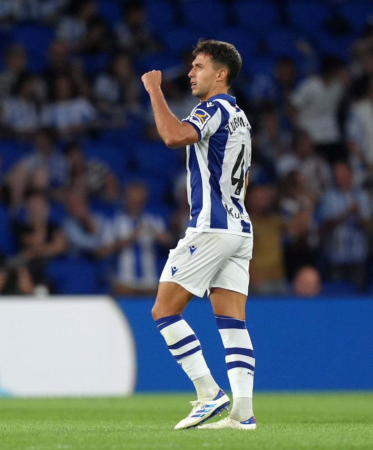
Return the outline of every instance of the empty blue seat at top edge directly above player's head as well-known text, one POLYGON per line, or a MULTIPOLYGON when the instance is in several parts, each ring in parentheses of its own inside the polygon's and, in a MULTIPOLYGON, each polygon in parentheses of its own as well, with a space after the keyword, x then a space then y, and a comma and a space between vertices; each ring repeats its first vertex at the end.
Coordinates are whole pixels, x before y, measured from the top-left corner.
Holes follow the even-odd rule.
MULTIPOLYGON (((182 2, 182 14, 188 27, 215 32, 226 23, 226 9, 219 0, 182 2)), ((205 36, 208 37, 208 36, 205 36)))

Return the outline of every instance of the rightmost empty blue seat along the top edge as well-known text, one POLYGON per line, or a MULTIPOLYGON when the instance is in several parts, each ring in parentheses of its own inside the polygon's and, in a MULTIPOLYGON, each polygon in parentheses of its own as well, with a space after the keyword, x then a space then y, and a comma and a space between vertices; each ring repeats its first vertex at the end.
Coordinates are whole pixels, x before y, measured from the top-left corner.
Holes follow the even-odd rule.
POLYGON ((323 31, 325 21, 332 14, 329 5, 318 0, 291 1, 287 5, 287 13, 291 23, 298 31, 309 36, 323 31))

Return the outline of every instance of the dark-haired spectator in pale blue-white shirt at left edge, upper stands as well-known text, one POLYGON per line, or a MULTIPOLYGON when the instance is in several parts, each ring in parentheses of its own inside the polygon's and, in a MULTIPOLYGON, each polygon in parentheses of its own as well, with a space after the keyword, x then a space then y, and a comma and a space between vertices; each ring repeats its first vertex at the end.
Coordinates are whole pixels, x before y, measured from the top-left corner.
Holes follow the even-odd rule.
POLYGON ((1 125, 5 135, 27 137, 40 124, 36 109, 36 77, 27 72, 19 76, 13 95, 1 104, 1 125))

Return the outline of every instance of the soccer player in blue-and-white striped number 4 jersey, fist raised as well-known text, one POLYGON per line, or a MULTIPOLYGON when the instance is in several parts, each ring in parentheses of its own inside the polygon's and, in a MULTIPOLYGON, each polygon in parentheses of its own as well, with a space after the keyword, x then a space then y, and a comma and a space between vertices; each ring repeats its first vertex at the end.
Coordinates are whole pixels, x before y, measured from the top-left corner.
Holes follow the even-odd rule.
POLYGON ((256 428, 253 416, 254 353, 245 325, 249 260, 253 230, 244 206, 251 159, 251 126, 228 95, 242 61, 235 47, 200 40, 189 77, 200 102, 179 121, 160 89, 160 71, 142 81, 150 95, 155 123, 170 148, 186 145, 187 190, 191 220, 160 277, 152 315, 171 354, 193 382, 197 400, 178 428, 256 428), (206 365, 200 342, 182 318, 193 296, 207 291, 226 349, 226 367, 233 393, 231 414, 204 424, 230 405, 206 365))

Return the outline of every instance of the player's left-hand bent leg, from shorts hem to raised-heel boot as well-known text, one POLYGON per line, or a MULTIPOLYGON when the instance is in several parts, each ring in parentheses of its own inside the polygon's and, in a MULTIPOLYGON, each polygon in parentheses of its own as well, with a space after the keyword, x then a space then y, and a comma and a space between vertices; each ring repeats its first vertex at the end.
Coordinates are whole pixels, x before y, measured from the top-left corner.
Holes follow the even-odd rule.
POLYGON ((191 413, 175 428, 194 428, 218 414, 230 404, 206 365, 200 341, 182 318, 182 311, 193 294, 173 282, 160 282, 158 295, 151 311, 155 324, 166 341, 169 351, 188 375, 197 391, 191 413))

